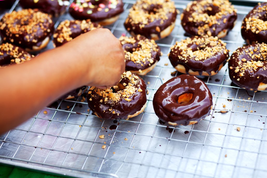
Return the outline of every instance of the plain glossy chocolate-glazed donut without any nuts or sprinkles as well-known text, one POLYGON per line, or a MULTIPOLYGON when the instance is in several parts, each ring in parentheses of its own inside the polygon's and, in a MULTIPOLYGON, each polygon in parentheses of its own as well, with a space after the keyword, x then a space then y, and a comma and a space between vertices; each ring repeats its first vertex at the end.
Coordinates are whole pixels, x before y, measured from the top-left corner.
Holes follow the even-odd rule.
POLYGON ((153 98, 160 120, 171 125, 190 125, 210 114, 212 95, 195 76, 182 74, 161 85, 153 98))

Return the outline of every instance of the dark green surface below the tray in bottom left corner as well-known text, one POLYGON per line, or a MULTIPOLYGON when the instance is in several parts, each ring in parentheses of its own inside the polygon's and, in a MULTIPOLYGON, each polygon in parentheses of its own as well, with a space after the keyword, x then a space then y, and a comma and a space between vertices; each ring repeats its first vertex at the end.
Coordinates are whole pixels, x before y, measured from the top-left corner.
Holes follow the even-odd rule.
POLYGON ((15 168, 6 165, 0 165, 0 178, 65 178, 62 176, 51 175, 42 172, 31 171, 27 169, 15 168))

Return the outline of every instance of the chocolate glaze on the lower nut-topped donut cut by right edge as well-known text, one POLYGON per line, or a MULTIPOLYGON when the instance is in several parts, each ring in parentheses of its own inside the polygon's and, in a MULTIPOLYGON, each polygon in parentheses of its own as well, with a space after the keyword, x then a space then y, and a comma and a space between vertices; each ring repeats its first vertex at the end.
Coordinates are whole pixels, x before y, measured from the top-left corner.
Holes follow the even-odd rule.
MULTIPOLYGON (((230 60, 228 62, 229 77, 237 86, 245 88, 247 90, 253 89, 254 91, 257 91, 258 86, 261 82, 267 84, 267 47, 265 50, 262 50, 262 52, 260 52, 259 50, 262 44, 264 43, 257 43, 254 45, 248 45, 242 48, 238 48, 230 57, 230 60), (243 76, 240 76, 241 71, 235 72, 236 67, 239 66, 239 62, 240 65, 243 65, 247 63, 247 61, 252 60, 252 58, 250 57, 250 48, 253 52, 253 55, 256 54, 262 57, 260 61, 263 63, 263 66, 258 67, 256 70, 247 68, 245 69, 243 76), (245 58, 246 61, 242 61, 243 58, 245 58)), ((259 59, 254 58, 253 60, 258 61, 259 59)))

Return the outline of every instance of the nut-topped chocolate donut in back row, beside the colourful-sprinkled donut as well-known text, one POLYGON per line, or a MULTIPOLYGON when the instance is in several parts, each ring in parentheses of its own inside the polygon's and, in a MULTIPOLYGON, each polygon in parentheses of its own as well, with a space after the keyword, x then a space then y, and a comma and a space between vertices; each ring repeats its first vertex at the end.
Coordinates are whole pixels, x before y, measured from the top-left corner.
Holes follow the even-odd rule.
POLYGON ((158 40, 170 35, 177 13, 171 0, 139 0, 129 10, 124 26, 133 36, 158 40))

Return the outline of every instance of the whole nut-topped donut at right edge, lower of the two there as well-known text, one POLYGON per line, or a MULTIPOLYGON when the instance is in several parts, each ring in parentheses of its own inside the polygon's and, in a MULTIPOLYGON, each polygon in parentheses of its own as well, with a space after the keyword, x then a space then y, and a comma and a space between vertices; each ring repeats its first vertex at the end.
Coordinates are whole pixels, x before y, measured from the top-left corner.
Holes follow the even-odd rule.
POLYGON ((267 89, 267 44, 257 43, 235 50, 228 62, 229 77, 246 90, 267 89))

